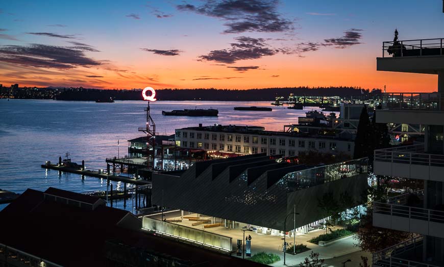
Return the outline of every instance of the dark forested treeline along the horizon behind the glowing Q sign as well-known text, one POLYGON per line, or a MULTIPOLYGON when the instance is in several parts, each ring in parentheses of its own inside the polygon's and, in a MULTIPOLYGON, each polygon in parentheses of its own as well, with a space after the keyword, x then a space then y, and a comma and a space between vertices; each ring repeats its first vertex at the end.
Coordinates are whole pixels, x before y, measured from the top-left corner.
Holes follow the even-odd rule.
MULTIPOLYGON (((343 98, 368 99, 381 96, 380 89, 357 87, 285 87, 248 90, 228 89, 159 89, 158 100, 203 100, 203 101, 274 101, 276 97, 294 96, 340 96, 343 98)), ((58 100, 94 101, 112 97, 115 100, 142 100, 141 90, 100 90, 70 88, 63 90, 58 100)))

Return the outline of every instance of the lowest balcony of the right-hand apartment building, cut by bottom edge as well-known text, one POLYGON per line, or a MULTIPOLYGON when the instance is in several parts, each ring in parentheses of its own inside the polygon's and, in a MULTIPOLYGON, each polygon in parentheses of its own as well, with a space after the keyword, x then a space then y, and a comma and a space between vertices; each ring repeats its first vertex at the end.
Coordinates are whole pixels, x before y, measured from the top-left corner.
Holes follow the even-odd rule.
POLYGON ((439 267, 422 262, 424 237, 417 236, 373 253, 373 267, 439 267))

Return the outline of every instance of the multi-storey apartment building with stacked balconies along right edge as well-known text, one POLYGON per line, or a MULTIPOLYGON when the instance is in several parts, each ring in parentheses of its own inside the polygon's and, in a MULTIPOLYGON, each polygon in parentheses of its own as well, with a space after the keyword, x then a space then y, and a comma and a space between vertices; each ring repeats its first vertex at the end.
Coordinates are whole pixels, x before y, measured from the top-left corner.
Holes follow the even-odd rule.
POLYGON ((377 175, 424 180, 424 190, 376 201, 373 224, 415 238, 373 255, 374 266, 444 266, 444 48, 443 39, 384 42, 377 69, 438 75, 435 93, 384 94, 379 123, 421 124, 424 144, 375 150, 377 175), (391 50, 390 50, 391 49, 391 50), (389 51, 393 57, 386 57, 389 51))

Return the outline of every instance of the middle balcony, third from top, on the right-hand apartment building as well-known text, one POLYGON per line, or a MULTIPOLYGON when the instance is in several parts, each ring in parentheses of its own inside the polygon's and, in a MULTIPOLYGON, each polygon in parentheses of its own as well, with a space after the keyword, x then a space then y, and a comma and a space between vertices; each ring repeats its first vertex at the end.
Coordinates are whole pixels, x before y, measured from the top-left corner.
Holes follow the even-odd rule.
POLYGON ((376 175, 444 181, 444 155, 425 153, 424 144, 375 150, 376 175))

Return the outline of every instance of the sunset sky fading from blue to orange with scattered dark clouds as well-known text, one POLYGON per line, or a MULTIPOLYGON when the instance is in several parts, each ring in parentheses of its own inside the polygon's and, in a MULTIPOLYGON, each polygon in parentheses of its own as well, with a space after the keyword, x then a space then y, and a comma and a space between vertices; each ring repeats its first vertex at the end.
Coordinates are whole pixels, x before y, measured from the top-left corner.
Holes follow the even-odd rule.
POLYGON ((395 28, 442 25, 441 0, 3 1, 0 84, 429 92, 436 75, 378 72, 376 57, 395 28))

